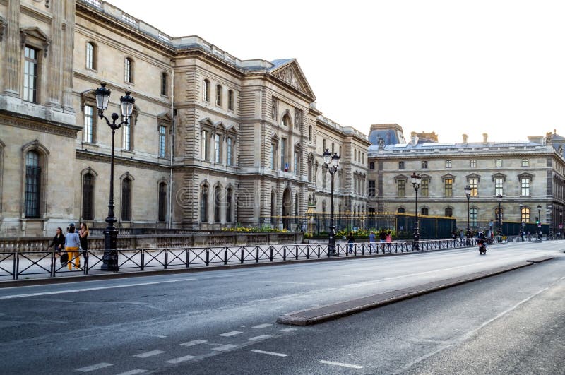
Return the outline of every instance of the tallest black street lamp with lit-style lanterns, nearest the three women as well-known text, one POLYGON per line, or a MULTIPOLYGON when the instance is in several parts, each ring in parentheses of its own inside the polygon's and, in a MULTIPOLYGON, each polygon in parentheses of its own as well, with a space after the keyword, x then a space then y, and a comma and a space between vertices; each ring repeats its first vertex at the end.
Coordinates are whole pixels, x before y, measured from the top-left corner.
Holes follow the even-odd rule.
POLYGON ((100 83, 100 88, 96 89, 96 107, 98 109, 98 117, 100 119, 105 119, 106 124, 112 129, 112 157, 110 159, 110 198, 108 203, 108 217, 106 218, 107 226, 104 230, 104 256, 102 256, 102 266, 100 270, 109 270, 117 272, 118 267, 118 252, 117 252, 117 240, 118 240, 118 230, 114 223, 117 221, 114 216, 114 135, 116 129, 119 129, 122 125, 127 125, 128 120, 133 112, 133 103, 136 102, 130 91, 126 91, 126 96, 119 98, 120 110, 121 110, 121 121, 116 124, 116 120, 119 119, 117 113, 112 113, 112 123, 105 117, 104 111, 108 109, 108 102, 110 100, 110 90, 106 88, 106 83, 100 83))

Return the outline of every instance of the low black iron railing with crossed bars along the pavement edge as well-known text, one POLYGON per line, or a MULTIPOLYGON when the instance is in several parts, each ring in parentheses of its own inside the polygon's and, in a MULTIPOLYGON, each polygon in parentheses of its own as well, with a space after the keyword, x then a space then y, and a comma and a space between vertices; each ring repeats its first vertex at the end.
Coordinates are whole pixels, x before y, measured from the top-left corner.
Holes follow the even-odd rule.
MULTIPOLYGON (((256 246, 179 247, 156 249, 120 249, 120 271, 143 271, 169 268, 227 266, 244 263, 268 263, 299 259, 320 259, 331 256, 367 256, 410 253, 475 246, 475 239, 439 239, 388 244, 357 242, 335 244, 335 254, 328 244, 278 244, 256 246)), ((64 254, 62 252, 61 254, 64 254)), ((85 251, 61 263, 61 254, 53 251, 11 251, 0 253, 0 280, 21 278, 54 278, 57 276, 103 273, 102 251, 85 251)))

